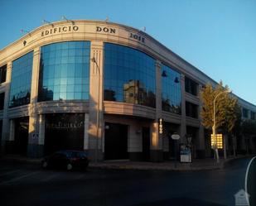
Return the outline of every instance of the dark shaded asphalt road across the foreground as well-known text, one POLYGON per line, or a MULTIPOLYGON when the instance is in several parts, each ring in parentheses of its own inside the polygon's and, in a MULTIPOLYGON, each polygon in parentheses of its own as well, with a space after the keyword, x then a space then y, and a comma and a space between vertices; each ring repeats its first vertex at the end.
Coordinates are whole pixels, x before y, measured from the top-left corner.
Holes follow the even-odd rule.
POLYGON ((0 160, 0 205, 234 206, 249 160, 233 160, 223 170, 183 172, 67 172, 0 160))

